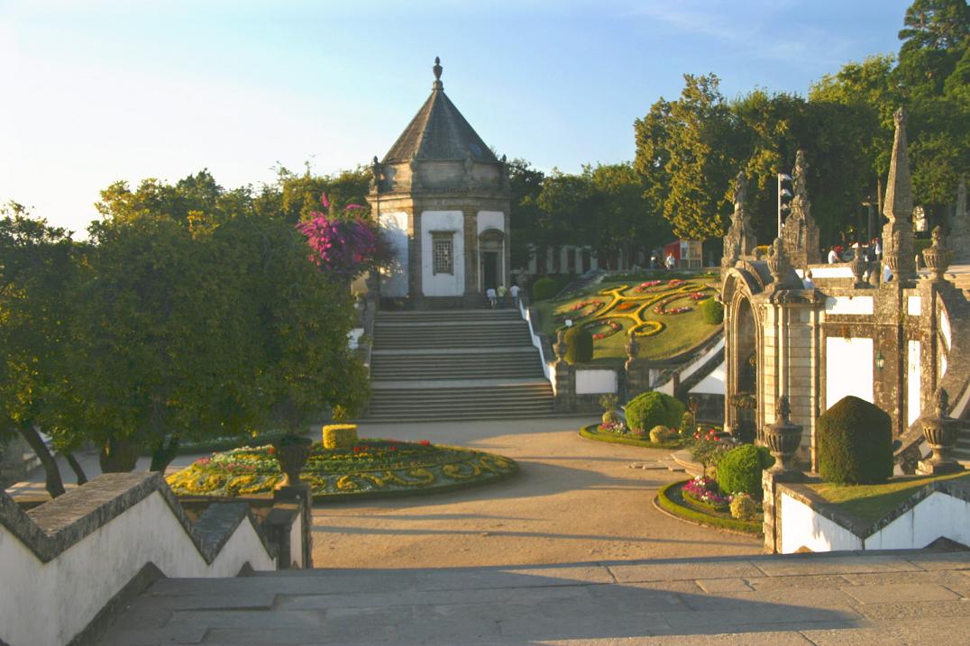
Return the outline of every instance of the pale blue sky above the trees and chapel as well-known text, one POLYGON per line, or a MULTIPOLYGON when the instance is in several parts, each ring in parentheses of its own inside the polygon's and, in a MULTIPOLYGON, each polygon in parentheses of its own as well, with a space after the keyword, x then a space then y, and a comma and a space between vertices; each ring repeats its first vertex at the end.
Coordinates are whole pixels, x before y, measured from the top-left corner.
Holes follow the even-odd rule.
POLYGON ((383 157, 444 90, 498 153, 544 171, 634 155, 683 75, 727 98, 805 95, 894 53, 911 0, 0 0, 0 203, 84 237, 117 180, 383 157))

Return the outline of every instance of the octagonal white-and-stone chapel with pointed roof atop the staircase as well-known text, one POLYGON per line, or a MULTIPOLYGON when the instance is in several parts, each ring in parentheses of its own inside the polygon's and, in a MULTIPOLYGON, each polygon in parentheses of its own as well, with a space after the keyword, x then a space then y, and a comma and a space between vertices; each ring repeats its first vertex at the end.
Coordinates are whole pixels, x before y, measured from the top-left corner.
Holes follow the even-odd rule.
POLYGON ((388 307, 476 307, 508 287, 510 189, 505 158, 485 145, 435 82, 398 141, 372 163, 372 213, 394 262, 380 279, 388 307))

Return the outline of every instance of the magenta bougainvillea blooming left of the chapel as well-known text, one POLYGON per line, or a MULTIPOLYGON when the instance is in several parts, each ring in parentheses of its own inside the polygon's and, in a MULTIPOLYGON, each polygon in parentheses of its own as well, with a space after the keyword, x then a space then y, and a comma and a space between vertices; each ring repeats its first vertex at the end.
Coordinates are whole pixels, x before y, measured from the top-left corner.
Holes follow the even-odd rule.
MULTIPOLYGON (((330 208, 326 193, 320 203, 324 209, 330 208)), ((377 253, 378 234, 371 221, 353 213, 362 208, 347 205, 342 215, 312 212, 311 219, 297 225, 313 249, 313 262, 324 271, 354 278, 371 266, 377 253)))

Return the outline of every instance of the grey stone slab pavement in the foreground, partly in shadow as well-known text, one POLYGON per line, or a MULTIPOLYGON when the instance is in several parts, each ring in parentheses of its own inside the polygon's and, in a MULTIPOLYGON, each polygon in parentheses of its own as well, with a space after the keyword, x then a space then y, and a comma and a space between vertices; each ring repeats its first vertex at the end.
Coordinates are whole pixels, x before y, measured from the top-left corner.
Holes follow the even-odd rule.
POLYGON ((970 552, 163 579, 100 642, 970 644, 970 552))

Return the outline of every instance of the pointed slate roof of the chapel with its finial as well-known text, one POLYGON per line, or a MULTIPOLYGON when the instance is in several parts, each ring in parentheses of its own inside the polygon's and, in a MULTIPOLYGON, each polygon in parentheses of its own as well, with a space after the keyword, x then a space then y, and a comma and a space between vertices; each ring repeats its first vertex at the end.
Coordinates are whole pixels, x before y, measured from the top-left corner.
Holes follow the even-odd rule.
POLYGON ((435 58, 435 84, 431 96, 384 155, 383 163, 419 160, 464 160, 498 163, 478 133, 444 93, 440 59, 435 58))

